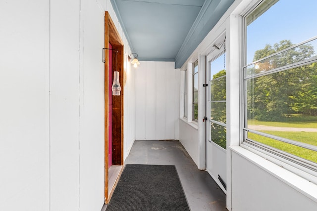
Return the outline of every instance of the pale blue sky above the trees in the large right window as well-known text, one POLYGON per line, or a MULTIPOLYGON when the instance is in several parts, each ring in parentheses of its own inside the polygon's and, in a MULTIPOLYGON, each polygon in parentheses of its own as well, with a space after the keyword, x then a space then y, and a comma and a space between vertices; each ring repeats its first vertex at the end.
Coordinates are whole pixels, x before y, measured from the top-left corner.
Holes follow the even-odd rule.
MULTIPOLYGON (((293 44, 317 36, 317 0, 279 0, 247 27, 247 64, 256 50, 282 40, 293 44)), ((317 46, 315 46, 315 53, 317 46)))

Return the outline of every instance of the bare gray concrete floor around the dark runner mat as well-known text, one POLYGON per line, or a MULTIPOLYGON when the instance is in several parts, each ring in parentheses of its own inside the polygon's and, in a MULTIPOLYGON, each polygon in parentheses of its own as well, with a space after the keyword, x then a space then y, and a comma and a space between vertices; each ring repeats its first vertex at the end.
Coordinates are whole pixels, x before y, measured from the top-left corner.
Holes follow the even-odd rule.
POLYGON ((227 211, 226 195, 179 141, 136 140, 125 164, 175 165, 191 211, 227 211))

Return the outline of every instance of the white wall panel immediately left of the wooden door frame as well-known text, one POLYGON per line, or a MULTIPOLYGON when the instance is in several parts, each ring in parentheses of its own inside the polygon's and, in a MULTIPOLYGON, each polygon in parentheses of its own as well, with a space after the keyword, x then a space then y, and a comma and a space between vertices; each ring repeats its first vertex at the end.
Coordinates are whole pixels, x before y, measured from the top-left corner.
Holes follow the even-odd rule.
POLYGON ((82 0, 81 6, 79 207, 99 211, 104 205, 105 16, 94 1, 82 0))

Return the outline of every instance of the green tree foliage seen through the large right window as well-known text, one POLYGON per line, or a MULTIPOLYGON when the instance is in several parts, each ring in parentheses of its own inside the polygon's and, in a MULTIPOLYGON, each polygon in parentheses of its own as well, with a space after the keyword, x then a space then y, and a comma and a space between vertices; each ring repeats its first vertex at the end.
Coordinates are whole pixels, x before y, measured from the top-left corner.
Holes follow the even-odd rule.
MULTIPOLYGON (((255 52, 254 61, 292 46, 281 41, 255 52)), ((314 56, 314 47, 303 44, 257 64, 248 74, 266 72, 314 56)), ((291 114, 317 115, 317 64, 295 67, 247 81, 248 118, 280 121, 291 114)))

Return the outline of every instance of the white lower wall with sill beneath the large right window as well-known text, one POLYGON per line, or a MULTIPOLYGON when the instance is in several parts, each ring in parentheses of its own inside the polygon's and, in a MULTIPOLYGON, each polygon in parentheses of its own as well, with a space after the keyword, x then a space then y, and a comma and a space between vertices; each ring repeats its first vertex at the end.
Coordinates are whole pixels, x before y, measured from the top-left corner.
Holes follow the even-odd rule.
POLYGON ((299 188, 308 187, 316 197, 315 184, 244 150, 230 152, 232 211, 316 210, 317 199, 299 188))

